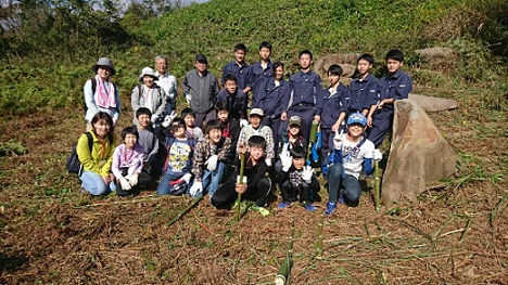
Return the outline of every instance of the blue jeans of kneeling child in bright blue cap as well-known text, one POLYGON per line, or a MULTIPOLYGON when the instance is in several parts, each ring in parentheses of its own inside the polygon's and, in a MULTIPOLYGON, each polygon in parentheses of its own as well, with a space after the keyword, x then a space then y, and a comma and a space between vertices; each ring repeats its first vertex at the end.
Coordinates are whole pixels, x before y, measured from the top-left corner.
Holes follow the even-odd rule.
POLYGON ((336 203, 339 193, 350 202, 358 202, 361 195, 361 186, 358 179, 351 174, 342 176, 342 172, 343 168, 341 164, 328 167, 328 202, 336 203), (341 189, 341 185, 344 189, 341 189))

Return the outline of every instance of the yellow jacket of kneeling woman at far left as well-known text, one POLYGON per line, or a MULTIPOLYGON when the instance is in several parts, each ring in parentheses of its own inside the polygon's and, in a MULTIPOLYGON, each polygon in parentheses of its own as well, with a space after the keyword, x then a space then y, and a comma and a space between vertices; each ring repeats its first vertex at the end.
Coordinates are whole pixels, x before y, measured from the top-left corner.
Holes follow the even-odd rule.
POLYGON ((88 148, 88 138, 84 133, 78 140, 76 153, 82 165, 84 171, 93 171, 101 177, 110 174, 113 163, 113 153, 115 151, 115 139, 106 139, 101 142, 93 131, 89 131, 93 138, 92 151, 88 148))

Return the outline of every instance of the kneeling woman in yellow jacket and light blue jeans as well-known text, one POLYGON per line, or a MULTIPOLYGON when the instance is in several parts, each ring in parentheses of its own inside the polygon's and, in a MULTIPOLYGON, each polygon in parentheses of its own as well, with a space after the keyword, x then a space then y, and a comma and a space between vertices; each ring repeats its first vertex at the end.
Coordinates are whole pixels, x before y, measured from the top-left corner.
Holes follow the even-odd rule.
POLYGON ((106 195, 116 190, 114 177, 111 173, 115 141, 113 138, 113 119, 105 112, 98 112, 90 120, 88 131, 93 140, 90 152, 88 135, 81 134, 76 146, 76 153, 82 165, 79 177, 84 191, 96 195, 106 195))

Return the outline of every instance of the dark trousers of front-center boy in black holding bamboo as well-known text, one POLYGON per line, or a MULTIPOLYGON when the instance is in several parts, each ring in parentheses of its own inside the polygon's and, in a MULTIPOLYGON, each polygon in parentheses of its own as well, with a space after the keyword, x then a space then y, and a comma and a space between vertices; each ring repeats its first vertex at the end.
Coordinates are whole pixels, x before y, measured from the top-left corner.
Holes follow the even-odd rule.
MULTIPOLYGON (((231 204, 238 197, 238 193, 234 190, 237 184, 237 177, 230 178, 224 183, 211 197, 211 203, 217 209, 230 209, 231 204)), ((269 178, 264 177, 259 180, 256 186, 249 187, 247 191, 242 195, 242 199, 254 200, 257 206, 265 207, 266 197, 270 193, 271 181, 269 178)))

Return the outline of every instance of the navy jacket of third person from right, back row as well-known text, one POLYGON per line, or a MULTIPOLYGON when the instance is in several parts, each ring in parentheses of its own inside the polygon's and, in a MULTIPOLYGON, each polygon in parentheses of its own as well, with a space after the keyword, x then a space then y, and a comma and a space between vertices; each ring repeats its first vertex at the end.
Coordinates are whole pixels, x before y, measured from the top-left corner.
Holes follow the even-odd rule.
POLYGON ((322 98, 321 128, 331 128, 342 112, 347 113, 351 102, 350 90, 339 85, 336 92, 330 94, 329 89, 323 89, 320 93, 322 98))

